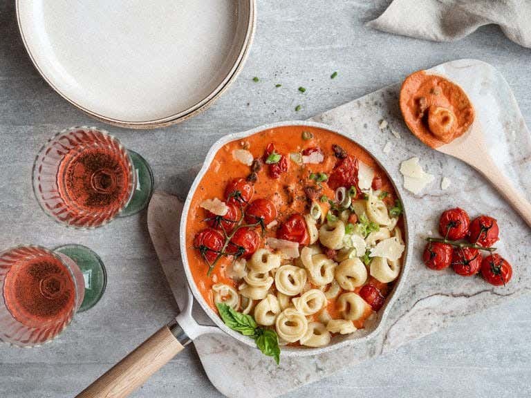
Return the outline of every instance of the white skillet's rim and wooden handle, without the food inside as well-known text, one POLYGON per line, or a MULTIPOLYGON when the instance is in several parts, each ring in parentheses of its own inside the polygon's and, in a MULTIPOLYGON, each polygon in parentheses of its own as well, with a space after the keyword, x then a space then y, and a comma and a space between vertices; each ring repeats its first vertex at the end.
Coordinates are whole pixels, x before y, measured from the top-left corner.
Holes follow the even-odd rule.
MULTIPOLYGON (((210 163, 214 159, 217 151, 227 142, 233 140, 239 140, 241 138, 246 138, 254 133, 259 131, 272 129, 278 126, 315 126, 328 131, 333 131, 341 135, 345 135, 341 131, 337 131, 330 126, 325 124, 319 124, 314 122, 281 122, 276 124, 268 124, 265 126, 257 127, 250 131, 245 131, 243 133, 234 133, 226 135, 225 137, 218 140, 213 146, 212 149, 207 154, 203 168, 199 171, 196 180, 192 184, 190 191, 188 193, 183 215, 180 221, 180 252, 183 259, 183 265, 185 269, 185 274, 188 282, 187 289, 187 305, 185 310, 181 312, 174 321, 171 321, 168 325, 163 326, 158 332, 149 337, 147 341, 142 343, 136 350, 131 352, 127 357, 122 359, 120 363, 111 368, 106 374, 104 374, 100 379, 97 379, 91 386, 84 390, 78 397, 88 398, 88 397, 126 397, 130 392, 138 388, 142 383, 144 383, 154 372, 161 368, 165 363, 167 363, 171 358, 173 358, 180 350, 183 350, 185 345, 193 341, 202 334, 228 334, 230 337, 241 341, 241 343, 249 345, 252 348, 256 348, 255 343, 252 339, 244 337, 238 332, 234 332, 230 328, 227 328, 223 321, 219 318, 207 304, 201 292, 197 289, 194 279, 192 277, 192 272, 189 269, 189 263, 187 259, 187 246, 190 243, 186 242, 185 231, 187 229, 187 214, 190 207, 190 202, 194 196, 198 184, 201 182, 205 172, 210 166, 210 163), (199 325, 192 316, 192 305, 194 299, 201 305, 201 308, 205 311, 209 319, 211 319, 216 326, 205 326, 199 325)), ((345 135, 347 138, 348 136, 345 135)), ((371 155, 373 155, 371 153, 371 155)), ((373 158, 382 166, 378 161, 378 158, 373 155, 373 158)), ((384 167, 382 167, 384 169, 384 167)), ((386 171, 384 169, 384 171, 386 171)), ((387 171, 386 171, 387 173, 387 171)), ((389 173, 388 173, 389 175, 389 173)), ((392 180, 391 180, 392 181, 392 180)), ((398 191, 396 185, 393 183, 395 191, 397 192, 398 198, 400 197, 400 192, 398 191)), ((374 334, 378 333, 380 325, 386 319, 386 316, 395 301, 400 288, 404 284, 407 272, 409 269, 408 253, 411 252, 411 243, 409 239, 409 230, 407 226, 406 214, 404 214, 404 238, 406 242, 406 250, 404 252, 404 262, 402 266, 402 271, 398 281, 395 283, 393 291, 388 296, 386 304, 378 312, 378 316, 375 316, 374 319, 367 322, 365 328, 362 330, 357 330, 353 334, 348 334, 345 336, 336 336, 332 339, 330 345, 322 348, 299 348, 299 347, 288 347, 284 346, 281 348, 281 356, 306 356, 306 355, 315 355, 322 352, 337 350, 346 345, 353 343, 354 341, 360 341, 360 339, 370 339, 374 334)))

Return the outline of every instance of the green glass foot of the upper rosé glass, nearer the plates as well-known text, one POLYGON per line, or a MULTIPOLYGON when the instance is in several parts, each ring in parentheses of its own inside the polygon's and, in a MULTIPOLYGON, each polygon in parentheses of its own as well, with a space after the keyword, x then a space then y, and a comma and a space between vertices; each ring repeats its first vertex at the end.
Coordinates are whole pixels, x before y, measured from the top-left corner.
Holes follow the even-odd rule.
POLYGON ((129 200, 129 204, 118 217, 132 216, 144 210, 149 204, 151 193, 153 193, 153 185, 155 184, 153 171, 151 171, 148 162, 135 151, 129 151, 128 149, 127 152, 129 152, 135 167, 137 184, 133 198, 129 200))

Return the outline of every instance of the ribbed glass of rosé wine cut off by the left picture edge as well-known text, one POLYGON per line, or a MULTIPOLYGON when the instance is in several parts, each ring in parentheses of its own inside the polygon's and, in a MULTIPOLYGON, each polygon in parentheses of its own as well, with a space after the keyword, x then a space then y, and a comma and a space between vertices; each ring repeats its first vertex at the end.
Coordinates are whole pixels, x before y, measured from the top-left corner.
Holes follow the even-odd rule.
POLYGON ((100 301, 105 286, 102 260, 88 247, 0 252, 0 341, 27 347, 53 339, 100 301))

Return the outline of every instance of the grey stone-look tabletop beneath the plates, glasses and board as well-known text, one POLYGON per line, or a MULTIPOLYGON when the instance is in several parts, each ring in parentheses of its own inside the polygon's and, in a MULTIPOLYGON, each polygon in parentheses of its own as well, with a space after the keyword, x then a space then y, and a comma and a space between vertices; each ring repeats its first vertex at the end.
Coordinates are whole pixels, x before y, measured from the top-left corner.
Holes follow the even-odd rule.
MULTIPOLYGON (((102 256, 109 285, 97 307, 77 316, 56 341, 29 350, 0 346, 0 397, 72 397, 176 312, 145 214, 96 231, 73 231, 40 211, 31 191, 32 160, 55 131, 75 124, 108 129, 147 158, 157 188, 183 198, 194 177, 189 168, 222 135, 266 122, 306 119, 399 81, 412 70, 451 59, 473 57, 496 66, 531 123, 531 50, 508 41, 493 26, 453 44, 386 35, 363 24, 389 1, 357 0, 311 6, 259 1, 248 63, 212 108, 155 131, 105 126, 70 106, 39 77, 21 44, 13 3, 0 2, 0 247, 83 243, 102 256), (338 76, 330 80, 334 70, 338 76), (252 82, 254 76, 259 83, 252 82), (283 86, 274 88, 276 83, 283 86), (299 93, 299 86, 306 93, 299 93), (297 104, 302 106, 298 113, 297 104)), ((528 397, 530 305, 529 296, 516 299, 289 396, 528 397)), ((219 396, 195 352, 187 350, 135 396, 192 394, 219 396)))

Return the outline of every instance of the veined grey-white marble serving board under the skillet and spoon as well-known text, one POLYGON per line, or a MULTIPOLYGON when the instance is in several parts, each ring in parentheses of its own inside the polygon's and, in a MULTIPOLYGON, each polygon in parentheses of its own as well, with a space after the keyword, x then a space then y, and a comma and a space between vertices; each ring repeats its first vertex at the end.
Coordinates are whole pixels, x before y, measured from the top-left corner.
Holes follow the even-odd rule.
MULTIPOLYGON (((516 187, 531 198, 531 138, 503 76, 489 64, 460 59, 432 68, 460 84, 476 107, 477 119, 487 134, 492 157, 516 187), (526 179, 527 177, 527 179, 526 179)), ((209 335, 194 341, 205 372, 214 386, 227 397, 277 397, 305 383, 327 377, 342 368, 366 361, 426 336, 465 316, 499 305, 511 297, 530 293, 531 272, 526 268, 531 252, 531 231, 501 196, 471 167, 438 153, 418 141, 402 122, 398 107, 400 84, 382 88, 348 104, 313 117, 316 122, 334 126, 375 154, 397 182, 408 215, 413 252, 407 280, 378 334, 354 342, 348 348, 316 357, 282 357, 275 366, 270 358, 228 336, 209 335), (382 128, 381 121, 388 126, 382 128), (387 142, 391 151, 384 153, 387 142), (418 195, 402 188, 400 162, 417 156, 422 167, 435 176, 434 182, 418 195), (451 180, 440 189, 440 180, 451 180), (437 234, 440 213, 449 207, 462 207, 471 217, 490 214, 497 218, 501 241, 499 253, 514 267, 506 287, 492 287, 481 278, 463 278, 451 269, 435 272, 422 265, 426 236, 437 234)), ((167 195, 156 195, 158 206, 174 207, 178 221, 180 203, 167 195)), ((164 220, 173 223, 174 220, 164 220)), ((173 225, 178 225, 174 222, 173 225)), ((168 245, 178 253, 178 231, 168 245)), ((173 258, 178 258, 174 256, 173 258)), ((179 265, 180 267, 180 265, 179 265)), ((178 304, 185 297, 184 273, 180 269, 170 284, 178 304), (180 286, 180 287, 179 287, 180 286)))

